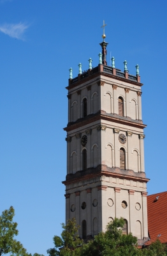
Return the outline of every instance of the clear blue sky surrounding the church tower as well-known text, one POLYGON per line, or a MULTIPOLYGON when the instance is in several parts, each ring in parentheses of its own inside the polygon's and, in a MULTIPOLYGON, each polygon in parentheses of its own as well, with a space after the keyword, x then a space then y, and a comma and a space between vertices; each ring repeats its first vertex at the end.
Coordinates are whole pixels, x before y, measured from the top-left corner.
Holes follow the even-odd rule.
POLYGON ((69 68, 98 65, 101 26, 130 74, 140 65, 149 194, 166 191, 166 1, 0 0, 0 212, 15 208, 29 253, 53 246, 65 218, 69 68))

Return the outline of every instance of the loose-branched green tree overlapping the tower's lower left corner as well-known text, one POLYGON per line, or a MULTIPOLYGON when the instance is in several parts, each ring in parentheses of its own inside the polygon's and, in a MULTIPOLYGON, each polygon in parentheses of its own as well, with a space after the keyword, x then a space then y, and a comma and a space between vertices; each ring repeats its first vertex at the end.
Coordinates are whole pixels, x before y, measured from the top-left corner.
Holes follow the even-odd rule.
POLYGON ((80 226, 76 224, 75 218, 68 220, 67 225, 64 223, 61 225, 63 229, 61 237, 54 236, 55 247, 48 249, 47 253, 50 256, 79 256, 80 244, 83 243, 77 234, 80 226))

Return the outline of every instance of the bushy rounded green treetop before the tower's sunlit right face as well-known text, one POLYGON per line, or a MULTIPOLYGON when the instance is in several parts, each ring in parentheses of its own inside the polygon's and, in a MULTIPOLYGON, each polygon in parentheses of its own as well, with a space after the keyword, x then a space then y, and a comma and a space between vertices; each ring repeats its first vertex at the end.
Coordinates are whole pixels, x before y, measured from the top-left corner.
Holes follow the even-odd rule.
POLYGON ((84 244, 81 249, 81 256, 131 256, 141 255, 136 247, 137 238, 132 234, 122 235, 123 218, 108 223, 106 232, 100 232, 94 240, 84 244))

